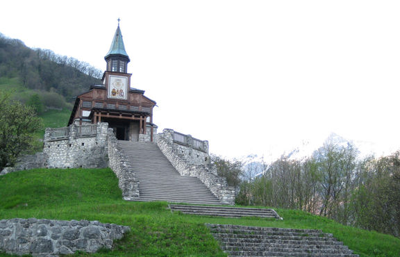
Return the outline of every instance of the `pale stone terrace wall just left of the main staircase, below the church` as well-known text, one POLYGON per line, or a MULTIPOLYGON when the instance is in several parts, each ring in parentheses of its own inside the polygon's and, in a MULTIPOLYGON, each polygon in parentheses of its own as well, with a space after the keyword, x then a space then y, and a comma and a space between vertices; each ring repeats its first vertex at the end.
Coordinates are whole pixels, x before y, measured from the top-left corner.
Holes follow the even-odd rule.
POLYGON ((56 136, 60 128, 47 128, 44 133, 43 153, 47 155, 49 168, 100 168, 108 167, 107 129, 108 124, 71 126, 68 136, 56 136), (90 128, 92 131, 88 131, 90 128), (79 133, 88 131, 87 133, 79 133))

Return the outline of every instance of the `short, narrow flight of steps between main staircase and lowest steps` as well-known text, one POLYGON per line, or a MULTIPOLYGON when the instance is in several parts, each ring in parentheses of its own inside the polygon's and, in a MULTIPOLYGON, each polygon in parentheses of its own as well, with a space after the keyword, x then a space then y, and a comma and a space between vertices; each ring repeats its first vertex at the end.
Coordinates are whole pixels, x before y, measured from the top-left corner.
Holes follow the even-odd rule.
POLYGON ((180 211, 192 215, 208 215, 222 217, 264 217, 280 219, 278 213, 272 209, 263 208, 237 208, 226 206, 190 206, 181 204, 169 204, 172 211, 180 211))

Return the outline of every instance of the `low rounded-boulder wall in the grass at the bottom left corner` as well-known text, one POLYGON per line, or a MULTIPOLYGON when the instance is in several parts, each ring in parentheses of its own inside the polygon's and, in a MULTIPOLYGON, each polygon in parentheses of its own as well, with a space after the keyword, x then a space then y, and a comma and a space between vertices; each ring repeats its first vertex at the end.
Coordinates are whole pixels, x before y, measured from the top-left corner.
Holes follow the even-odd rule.
POLYGON ((88 220, 2 219, 0 251, 33 256, 94 253, 103 247, 111 249, 113 240, 121 239, 129 230, 128 226, 88 220))

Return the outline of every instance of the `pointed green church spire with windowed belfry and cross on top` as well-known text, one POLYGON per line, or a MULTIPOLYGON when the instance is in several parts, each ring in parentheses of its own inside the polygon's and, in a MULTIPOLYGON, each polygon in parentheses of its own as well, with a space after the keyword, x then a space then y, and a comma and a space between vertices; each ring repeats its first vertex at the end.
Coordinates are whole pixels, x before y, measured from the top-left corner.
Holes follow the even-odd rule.
POLYGON ((118 19, 117 31, 115 31, 110 50, 104 59, 107 62, 108 71, 126 73, 126 68, 131 60, 129 59, 128 53, 125 51, 124 40, 122 40, 122 33, 119 28, 119 21, 120 19, 118 19))

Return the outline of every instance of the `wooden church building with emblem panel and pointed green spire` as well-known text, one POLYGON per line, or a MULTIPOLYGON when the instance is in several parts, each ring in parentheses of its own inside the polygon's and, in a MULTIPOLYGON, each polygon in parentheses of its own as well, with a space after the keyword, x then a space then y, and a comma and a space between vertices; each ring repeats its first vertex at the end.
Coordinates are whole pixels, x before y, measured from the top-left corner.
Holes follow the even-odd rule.
POLYGON ((130 61, 122 42, 119 26, 110 51, 105 57, 107 70, 102 85, 78 95, 69 118, 70 124, 108 122, 119 140, 138 141, 140 134, 153 141, 153 107, 156 101, 144 96, 144 90, 131 88, 131 75, 126 73, 130 61))

